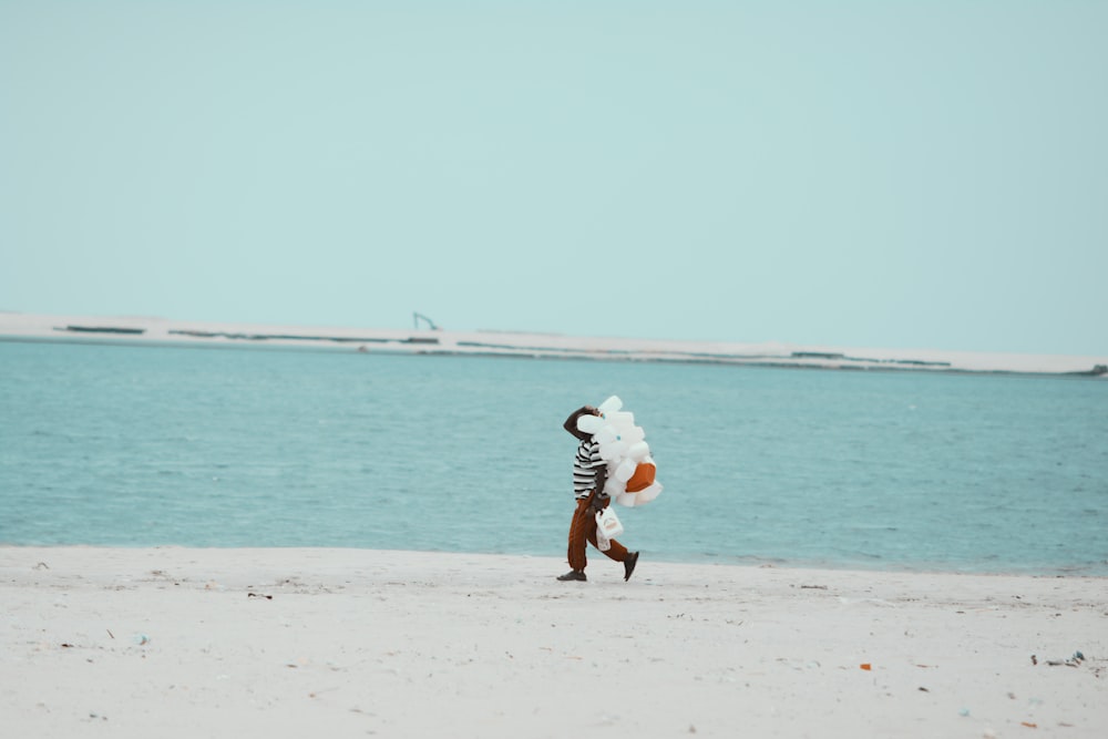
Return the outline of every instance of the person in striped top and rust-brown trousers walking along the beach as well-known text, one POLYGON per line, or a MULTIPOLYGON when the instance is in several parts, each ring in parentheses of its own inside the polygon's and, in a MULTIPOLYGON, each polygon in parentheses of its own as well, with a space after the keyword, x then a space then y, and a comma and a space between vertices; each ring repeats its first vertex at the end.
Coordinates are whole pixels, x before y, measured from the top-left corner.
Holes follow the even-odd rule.
MULTIPOLYGON (((570 522, 570 572, 558 575, 563 582, 585 582, 585 567, 588 560, 585 556, 585 543, 599 548, 596 544, 596 514, 611 504, 611 496, 604 492, 604 483, 608 478, 607 463, 601 459, 601 444, 593 434, 577 428, 577 419, 582 415, 599 415, 601 412, 592 406, 582 406, 565 420, 563 428, 573 434, 581 443, 573 460, 573 494, 577 507, 570 522)), ((611 547, 605 555, 624 565, 624 581, 630 579, 638 563, 638 552, 628 552, 627 547, 611 540, 611 547)))

